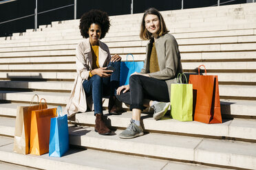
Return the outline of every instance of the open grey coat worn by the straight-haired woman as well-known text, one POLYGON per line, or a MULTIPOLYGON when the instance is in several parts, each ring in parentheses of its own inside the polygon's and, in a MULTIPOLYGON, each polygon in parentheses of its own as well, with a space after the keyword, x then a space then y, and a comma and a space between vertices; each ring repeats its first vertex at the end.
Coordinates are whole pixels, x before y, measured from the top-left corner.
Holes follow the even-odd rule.
MULTIPOLYGON (((151 56, 152 44, 152 40, 147 44, 146 59, 140 73, 149 73, 149 58, 151 56)), ((158 80, 165 80, 168 86, 169 97, 171 97, 171 84, 177 83, 178 73, 182 73, 178 43, 171 34, 164 34, 156 38, 155 46, 160 71, 149 73, 149 76, 158 80)))

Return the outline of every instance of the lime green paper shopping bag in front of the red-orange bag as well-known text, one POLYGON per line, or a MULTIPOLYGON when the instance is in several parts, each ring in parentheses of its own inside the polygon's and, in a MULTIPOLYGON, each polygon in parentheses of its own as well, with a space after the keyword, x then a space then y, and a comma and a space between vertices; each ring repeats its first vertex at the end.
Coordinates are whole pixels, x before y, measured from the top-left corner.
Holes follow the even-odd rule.
POLYGON ((171 117, 178 121, 193 121, 193 84, 182 84, 178 74, 178 84, 171 84, 171 117))

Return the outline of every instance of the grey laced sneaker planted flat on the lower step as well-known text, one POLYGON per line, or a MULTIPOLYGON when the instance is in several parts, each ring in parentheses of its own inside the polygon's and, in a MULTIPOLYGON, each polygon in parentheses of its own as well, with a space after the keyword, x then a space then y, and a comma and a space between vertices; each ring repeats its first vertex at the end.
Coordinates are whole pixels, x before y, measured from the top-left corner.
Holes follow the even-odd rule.
POLYGON ((142 136, 143 134, 142 127, 136 125, 131 119, 131 124, 126 128, 126 130, 119 134, 119 138, 135 138, 137 136, 142 136))

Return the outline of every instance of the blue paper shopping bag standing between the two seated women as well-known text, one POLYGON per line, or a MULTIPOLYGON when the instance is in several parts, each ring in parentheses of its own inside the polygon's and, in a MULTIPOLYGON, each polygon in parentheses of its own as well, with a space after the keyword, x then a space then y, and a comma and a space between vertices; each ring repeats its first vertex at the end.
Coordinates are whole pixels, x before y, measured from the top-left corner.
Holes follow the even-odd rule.
POLYGON ((140 73, 144 66, 144 62, 135 62, 134 56, 128 53, 126 56, 126 62, 121 62, 120 64, 120 86, 129 84, 130 75, 134 72, 140 73), (132 56, 132 62, 128 62, 128 56, 132 56))

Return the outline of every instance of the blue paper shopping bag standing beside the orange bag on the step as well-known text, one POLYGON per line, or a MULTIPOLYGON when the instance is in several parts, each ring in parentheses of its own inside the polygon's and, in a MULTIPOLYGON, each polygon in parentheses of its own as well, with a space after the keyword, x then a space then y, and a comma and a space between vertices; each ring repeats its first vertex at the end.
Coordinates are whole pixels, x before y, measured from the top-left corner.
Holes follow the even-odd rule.
POLYGON ((56 115, 51 119, 49 156, 61 157, 70 147, 67 114, 62 116, 62 108, 58 106, 56 115))

